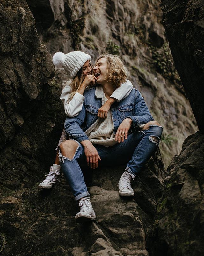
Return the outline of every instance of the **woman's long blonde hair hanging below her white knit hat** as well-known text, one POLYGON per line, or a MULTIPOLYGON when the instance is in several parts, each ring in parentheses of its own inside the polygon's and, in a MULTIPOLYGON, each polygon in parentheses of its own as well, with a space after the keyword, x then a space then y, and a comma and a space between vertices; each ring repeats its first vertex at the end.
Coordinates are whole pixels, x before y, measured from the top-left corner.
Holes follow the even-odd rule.
MULTIPOLYGON (((91 64, 91 63, 90 63, 91 64)), ((93 74, 93 68, 91 66, 91 75, 93 74)), ((80 85, 84 81, 84 73, 82 71, 82 68, 79 69, 77 75, 73 78, 73 80, 63 81, 63 87, 65 87, 67 84, 71 87, 71 93, 69 95, 68 101, 70 101, 74 95, 78 92, 80 85)))

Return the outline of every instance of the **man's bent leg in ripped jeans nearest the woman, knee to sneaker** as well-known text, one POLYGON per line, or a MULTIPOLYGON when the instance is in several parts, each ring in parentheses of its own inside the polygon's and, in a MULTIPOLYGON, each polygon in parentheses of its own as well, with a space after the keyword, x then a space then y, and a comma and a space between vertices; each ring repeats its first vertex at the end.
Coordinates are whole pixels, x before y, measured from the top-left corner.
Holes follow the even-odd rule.
MULTIPOLYGON (((83 161, 84 149, 76 140, 66 140, 60 145, 59 158, 62 171, 69 183, 75 201, 79 201, 80 212, 75 216, 77 222, 95 220, 96 215, 93 211, 89 192, 84 181, 84 176, 77 162, 79 158, 83 161)), ((86 160, 84 158, 84 162, 86 160)))

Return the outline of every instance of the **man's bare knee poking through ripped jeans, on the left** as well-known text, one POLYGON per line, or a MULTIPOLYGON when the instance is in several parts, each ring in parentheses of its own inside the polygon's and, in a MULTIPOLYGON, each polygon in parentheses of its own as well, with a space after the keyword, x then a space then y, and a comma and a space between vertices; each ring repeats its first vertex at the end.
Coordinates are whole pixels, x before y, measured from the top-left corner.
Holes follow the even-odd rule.
POLYGON ((60 144, 62 156, 73 159, 79 144, 75 140, 66 140, 60 144))

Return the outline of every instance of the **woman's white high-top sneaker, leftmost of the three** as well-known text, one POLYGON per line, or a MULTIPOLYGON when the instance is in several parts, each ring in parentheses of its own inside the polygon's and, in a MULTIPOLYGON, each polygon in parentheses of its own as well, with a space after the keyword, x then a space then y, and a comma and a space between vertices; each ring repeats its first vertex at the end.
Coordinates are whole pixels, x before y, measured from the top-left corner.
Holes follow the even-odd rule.
MULTIPOLYGON (((56 168, 57 164, 53 164, 53 166, 56 168), (55 166, 54 166, 55 165, 55 166)), ((43 182, 41 182, 38 187, 39 188, 52 188, 52 186, 60 181, 60 168, 54 169, 53 166, 50 166, 50 172, 45 175, 47 176, 43 182)), ((59 166, 59 165, 58 165, 59 166)), ((60 166, 61 167, 61 166, 60 166)))

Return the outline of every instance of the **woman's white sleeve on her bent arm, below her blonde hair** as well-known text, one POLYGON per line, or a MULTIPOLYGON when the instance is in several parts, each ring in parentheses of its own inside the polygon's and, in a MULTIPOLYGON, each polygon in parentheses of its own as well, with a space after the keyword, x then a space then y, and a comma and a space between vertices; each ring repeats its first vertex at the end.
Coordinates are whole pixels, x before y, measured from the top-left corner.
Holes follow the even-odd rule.
POLYGON ((74 97, 68 102, 70 92, 71 92, 70 86, 69 85, 65 86, 62 90, 60 99, 64 104, 64 111, 66 116, 74 117, 74 116, 77 116, 79 112, 82 110, 84 96, 77 92, 74 95, 74 97))

